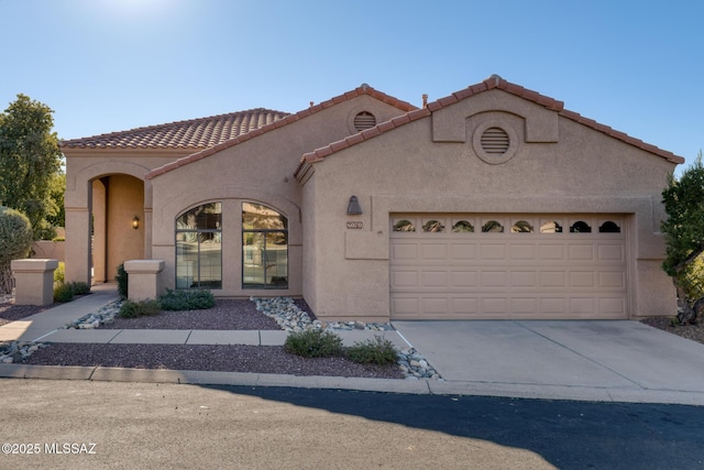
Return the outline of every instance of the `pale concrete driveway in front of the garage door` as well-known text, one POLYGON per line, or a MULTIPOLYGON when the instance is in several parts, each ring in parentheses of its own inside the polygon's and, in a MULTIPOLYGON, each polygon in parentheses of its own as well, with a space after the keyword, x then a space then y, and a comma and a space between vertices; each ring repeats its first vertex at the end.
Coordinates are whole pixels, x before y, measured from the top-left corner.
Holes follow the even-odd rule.
POLYGON ((704 404, 704 345, 637 321, 393 325, 448 382, 448 392, 704 404))

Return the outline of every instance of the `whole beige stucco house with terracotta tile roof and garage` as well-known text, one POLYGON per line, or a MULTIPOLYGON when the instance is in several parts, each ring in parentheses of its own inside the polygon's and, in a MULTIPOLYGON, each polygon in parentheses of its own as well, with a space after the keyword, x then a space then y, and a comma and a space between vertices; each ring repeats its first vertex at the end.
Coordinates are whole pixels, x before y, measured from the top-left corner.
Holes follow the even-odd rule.
POLYGON ((672 315, 684 160, 499 76, 415 107, 361 87, 62 142, 66 280, 302 296, 323 319, 672 315))

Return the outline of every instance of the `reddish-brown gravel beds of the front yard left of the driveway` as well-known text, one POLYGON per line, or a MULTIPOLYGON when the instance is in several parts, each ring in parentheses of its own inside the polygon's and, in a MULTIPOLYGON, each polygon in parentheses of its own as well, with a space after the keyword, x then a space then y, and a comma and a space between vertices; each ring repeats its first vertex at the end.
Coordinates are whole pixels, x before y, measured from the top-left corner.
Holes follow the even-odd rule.
MULTIPOLYGON (((296 300, 301 309, 308 309, 296 300)), ((53 306, 53 305, 52 305, 53 306)), ((52 306, 35 307, 0 303, 0 325, 34 315, 52 306)), ((280 330, 276 320, 256 309, 254 302, 218 299, 204 310, 162 311, 154 317, 114 318, 101 329, 213 329, 280 330)), ((11 343, 0 343, 10 350, 11 343)), ((28 349, 32 345, 15 345, 28 349)), ((283 346, 245 345, 97 345, 45 342, 16 362, 32 365, 85 365, 134 369, 168 369, 216 372, 252 372, 372 379, 406 379, 398 364, 359 364, 343 357, 301 358, 283 346)))

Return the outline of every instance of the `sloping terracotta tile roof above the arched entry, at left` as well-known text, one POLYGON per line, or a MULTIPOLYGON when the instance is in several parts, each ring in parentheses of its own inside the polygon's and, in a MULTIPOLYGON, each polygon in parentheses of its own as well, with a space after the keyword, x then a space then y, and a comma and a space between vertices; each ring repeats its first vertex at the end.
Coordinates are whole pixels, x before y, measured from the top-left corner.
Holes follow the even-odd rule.
POLYGON ((62 141, 68 149, 207 149, 286 118, 289 113, 248 111, 150 125, 129 131, 62 141))

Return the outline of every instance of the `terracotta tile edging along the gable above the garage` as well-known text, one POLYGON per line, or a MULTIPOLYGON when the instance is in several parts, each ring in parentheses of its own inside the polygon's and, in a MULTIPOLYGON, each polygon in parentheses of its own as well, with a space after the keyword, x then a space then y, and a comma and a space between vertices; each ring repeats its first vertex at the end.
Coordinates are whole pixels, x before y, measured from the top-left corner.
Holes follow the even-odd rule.
POLYGON ((576 112, 573 111, 569 111, 565 110, 563 108, 563 102, 562 101, 558 101, 556 99, 552 99, 550 97, 540 95, 537 91, 534 90, 529 90, 526 89, 519 85, 515 85, 512 84, 509 81, 506 81, 505 79, 503 79, 502 77, 499 77, 498 75, 492 75, 491 77, 488 77, 487 79, 485 79, 484 81, 477 84, 477 85, 473 85, 471 87, 468 87, 463 90, 457 91, 448 97, 444 98, 440 98, 437 101, 430 102, 428 103, 428 106, 424 109, 418 109, 418 110, 414 110, 410 111, 404 116, 399 116, 397 118, 392 119, 391 121, 386 121, 386 122, 382 122, 380 124, 377 124, 374 128, 371 129, 366 129, 358 134, 354 135, 350 135, 346 139, 343 139, 341 141, 338 142, 333 142, 329 145, 326 145, 321 149, 317 149, 312 152, 308 152, 306 154, 304 154, 300 165, 298 166, 298 168, 296 170, 296 175, 300 175, 301 171, 304 170, 304 167, 307 164, 311 164, 311 163, 316 163, 319 162, 321 160, 323 160, 326 156, 338 152, 340 150, 350 147, 352 145, 355 145, 360 142, 363 142, 365 140, 369 139, 373 139, 384 132, 391 131, 394 128, 398 128, 400 125, 407 124, 409 122, 416 121, 418 119, 422 119, 426 118, 428 116, 430 116, 433 111, 437 111, 439 109, 442 109, 447 106, 451 106, 460 100, 463 100, 465 98, 470 98, 474 95, 479 95, 481 92, 491 90, 491 89, 501 89, 504 90, 506 92, 509 92, 512 95, 516 95, 518 97, 521 97, 524 99, 527 99, 529 101, 534 101, 537 105, 543 106, 547 109, 553 110, 556 112, 558 112, 558 114, 570 119, 572 121, 579 122, 581 124, 584 124, 588 128, 592 128, 596 131, 603 132, 607 135, 610 135, 615 139, 618 139, 623 142, 626 142, 630 145, 635 145, 639 149, 642 149, 647 152, 653 153, 656 155, 659 155, 670 162, 673 163, 684 163, 684 159, 681 156, 678 156, 675 154, 673 154, 672 152, 659 149, 654 145, 645 143, 644 141, 636 139, 636 138, 631 138, 628 134, 625 134, 624 132, 618 132, 612 128, 609 128, 608 125, 604 125, 604 124, 600 124, 598 122, 592 120, 592 119, 587 119, 582 117, 581 114, 578 114, 576 112))

